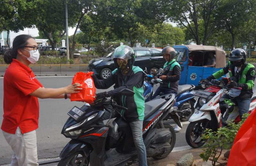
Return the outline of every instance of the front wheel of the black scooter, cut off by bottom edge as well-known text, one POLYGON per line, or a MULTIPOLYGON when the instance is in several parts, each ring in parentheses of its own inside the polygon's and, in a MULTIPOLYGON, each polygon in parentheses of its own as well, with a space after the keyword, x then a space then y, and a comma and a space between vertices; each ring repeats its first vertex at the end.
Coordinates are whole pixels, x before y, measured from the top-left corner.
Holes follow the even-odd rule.
POLYGON ((89 166, 89 162, 89 156, 85 156, 83 152, 76 152, 67 158, 61 159, 58 166, 89 166))

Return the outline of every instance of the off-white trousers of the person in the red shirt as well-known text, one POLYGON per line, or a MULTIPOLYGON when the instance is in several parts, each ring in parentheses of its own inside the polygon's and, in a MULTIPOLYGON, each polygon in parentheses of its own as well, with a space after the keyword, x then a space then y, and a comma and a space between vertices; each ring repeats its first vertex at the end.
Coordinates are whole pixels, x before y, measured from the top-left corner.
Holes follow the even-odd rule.
POLYGON ((4 138, 11 146, 13 155, 11 166, 38 166, 36 130, 21 134, 18 127, 15 134, 3 131, 4 138))

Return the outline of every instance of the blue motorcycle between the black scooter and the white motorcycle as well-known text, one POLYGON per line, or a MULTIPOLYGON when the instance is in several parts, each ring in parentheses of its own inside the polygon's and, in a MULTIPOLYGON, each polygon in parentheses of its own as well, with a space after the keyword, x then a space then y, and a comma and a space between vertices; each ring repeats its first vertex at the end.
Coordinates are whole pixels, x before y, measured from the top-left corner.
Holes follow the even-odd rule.
MULTIPOLYGON (((147 71, 147 69, 145 71, 147 71)), ((145 75, 144 85, 143 85, 143 88, 144 88, 143 97, 145 99, 145 102, 152 100, 154 85, 158 83, 162 84, 161 79, 155 78, 155 77, 161 76, 162 71, 163 69, 159 69, 159 73, 156 76, 148 75, 145 73, 146 75, 145 75)), ((194 99, 195 97, 194 88, 195 88, 194 85, 179 85, 178 87, 178 92, 175 97, 175 104, 173 105, 173 109, 176 113, 178 113, 180 117, 180 121, 188 121, 190 116, 193 115, 193 113, 195 112, 194 105, 196 100, 194 99)), ((161 96, 162 95, 160 93, 159 97, 161 96)), ((172 119, 172 118, 169 118, 169 119, 172 119)))

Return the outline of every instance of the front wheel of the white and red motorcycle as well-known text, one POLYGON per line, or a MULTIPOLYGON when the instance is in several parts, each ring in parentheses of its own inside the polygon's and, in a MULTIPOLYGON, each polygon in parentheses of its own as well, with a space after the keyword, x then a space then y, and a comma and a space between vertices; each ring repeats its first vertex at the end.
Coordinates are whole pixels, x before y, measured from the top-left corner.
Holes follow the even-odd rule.
POLYGON ((204 120, 190 122, 186 130, 186 141, 192 148, 200 148, 206 140, 201 138, 206 128, 204 120))

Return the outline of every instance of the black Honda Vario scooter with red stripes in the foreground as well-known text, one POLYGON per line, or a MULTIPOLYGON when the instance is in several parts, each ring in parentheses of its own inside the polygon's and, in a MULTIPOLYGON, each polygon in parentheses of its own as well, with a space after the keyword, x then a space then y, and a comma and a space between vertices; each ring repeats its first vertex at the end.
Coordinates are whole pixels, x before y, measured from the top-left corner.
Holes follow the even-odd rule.
MULTIPOLYGON (((124 89, 120 95, 132 96, 134 92, 124 89)), ((164 129, 162 120, 172 112, 174 95, 166 95, 145 103, 143 139, 147 156, 162 159, 169 155, 176 141, 175 132, 164 129)), ((123 117, 104 120, 97 125, 107 111, 127 110, 112 99, 99 99, 81 108, 74 107, 61 134, 71 141, 60 153, 58 166, 124 166, 137 162, 137 151, 132 131, 123 117)))

